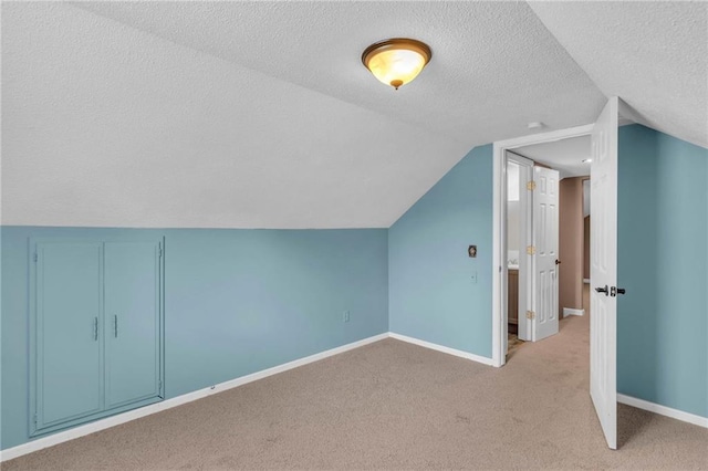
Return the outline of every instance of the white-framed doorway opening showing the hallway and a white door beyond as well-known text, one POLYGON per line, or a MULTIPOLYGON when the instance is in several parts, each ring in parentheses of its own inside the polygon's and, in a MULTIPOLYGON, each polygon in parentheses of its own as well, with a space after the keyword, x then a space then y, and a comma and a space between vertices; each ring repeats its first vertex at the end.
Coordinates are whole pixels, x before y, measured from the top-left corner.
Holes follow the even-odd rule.
POLYGON ((494 191, 494 240, 501 242, 494 250, 499 278, 493 307, 501 314, 492 327, 497 366, 522 341, 538 342, 555 334, 563 315, 584 314, 583 180, 590 175, 592 128, 494 143, 494 175, 500 177, 494 191), (561 214, 559 199, 565 193, 573 197, 570 207, 565 202, 573 208, 576 223, 572 231, 560 223, 565 214, 561 214), (577 250, 561 250, 566 239, 577 250), (561 265, 561 257, 566 255, 568 263, 561 265))

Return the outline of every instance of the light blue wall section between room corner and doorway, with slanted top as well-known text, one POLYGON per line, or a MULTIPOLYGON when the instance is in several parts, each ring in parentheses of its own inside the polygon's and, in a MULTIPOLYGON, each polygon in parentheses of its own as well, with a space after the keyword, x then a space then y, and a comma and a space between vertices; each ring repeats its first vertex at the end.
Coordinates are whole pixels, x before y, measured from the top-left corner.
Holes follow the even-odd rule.
POLYGON ((491 357, 491 255, 487 145, 473 148, 389 229, 391 331, 491 357), (468 245, 477 245, 476 259, 468 245))

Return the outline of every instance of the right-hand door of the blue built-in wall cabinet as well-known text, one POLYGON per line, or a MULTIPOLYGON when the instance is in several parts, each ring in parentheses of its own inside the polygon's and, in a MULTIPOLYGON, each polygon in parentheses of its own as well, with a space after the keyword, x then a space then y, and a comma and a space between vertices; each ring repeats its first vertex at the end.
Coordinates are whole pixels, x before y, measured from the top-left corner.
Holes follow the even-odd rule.
POLYGON ((160 395, 158 242, 106 242, 106 408, 160 395))

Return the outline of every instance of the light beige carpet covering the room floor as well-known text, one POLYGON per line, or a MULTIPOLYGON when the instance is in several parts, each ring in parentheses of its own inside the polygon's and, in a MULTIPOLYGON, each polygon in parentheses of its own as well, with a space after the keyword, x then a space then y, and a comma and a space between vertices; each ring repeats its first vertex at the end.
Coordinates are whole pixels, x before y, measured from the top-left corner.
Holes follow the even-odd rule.
POLYGON ((589 388, 587 316, 503 368, 386 339, 3 463, 3 470, 708 469, 708 430, 589 388))

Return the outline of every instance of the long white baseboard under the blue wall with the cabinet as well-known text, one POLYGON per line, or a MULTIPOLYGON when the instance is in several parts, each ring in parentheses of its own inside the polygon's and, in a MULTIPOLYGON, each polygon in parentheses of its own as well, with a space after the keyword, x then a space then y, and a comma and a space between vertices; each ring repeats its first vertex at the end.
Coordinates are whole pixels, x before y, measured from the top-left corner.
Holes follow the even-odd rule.
POLYGON ((220 383, 208 388, 198 389, 194 393, 188 393, 171 399, 164 400, 162 402, 152 404, 149 406, 140 407, 139 409, 128 410, 127 412, 118 414, 117 416, 107 417, 105 419, 96 420, 95 422, 86 423, 85 426, 79 426, 73 429, 56 432, 48 437, 39 438, 37 440, 29 441, 27 443, 18 444, 17 447, 8 448, 7 450, 0 450, 0 462, 8 461, 13 458, 21 457, 23 454, 39 451, 48 447, 53 447, 65 441, 73 440, 75 438, 85 437, 90 433, 105 430, 111 427, 115 427, 121 423, 129 422, 142 417, 150 416, 153 414, 160 412, 173 407, 181 406, 183 404, 191 402, 197 399, 201 399, 207 396, 211 396, 217 393, 221 393, 228 389, 232 389, 248 383, 257 381, 268 376, 277 375, 279 373, 287 371, 289 369, 304 366, 313 362, 339 355, 344 352, 352 350, 354 348, 362 347, 374 342, 388 338, 388 333, 374 335, 373 337, 364 338, 358 342, 342 345, 341 347, 332 348, 319 354, 310 355, 304 358, 295 359, 272 368, 263 369, 250 375, 241 376, 240 378, 231 379, 229 381, 220 383))

